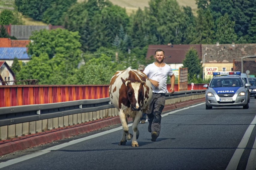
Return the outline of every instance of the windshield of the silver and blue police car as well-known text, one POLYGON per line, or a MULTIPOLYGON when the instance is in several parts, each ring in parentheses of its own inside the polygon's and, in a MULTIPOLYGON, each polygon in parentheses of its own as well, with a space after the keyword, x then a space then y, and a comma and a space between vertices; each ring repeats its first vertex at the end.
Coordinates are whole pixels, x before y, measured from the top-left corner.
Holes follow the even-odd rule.
POLYGON ((209 87, 242 87, 243 83, 239 78, 213 79, 209 87))

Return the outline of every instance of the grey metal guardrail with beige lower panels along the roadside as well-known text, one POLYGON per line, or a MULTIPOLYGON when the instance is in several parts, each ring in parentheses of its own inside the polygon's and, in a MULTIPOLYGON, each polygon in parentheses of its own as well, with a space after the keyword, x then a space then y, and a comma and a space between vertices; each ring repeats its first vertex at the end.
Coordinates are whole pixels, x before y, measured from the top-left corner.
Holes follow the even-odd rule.
MULTIPOLYGON (((165 105, 202 99, 205 97, 205 91, 166 93, 165 105)), ((114 116, 119 116, 119 112, 111 104, 109 97, 1 107, 0 139, 7 140, 114 116)))

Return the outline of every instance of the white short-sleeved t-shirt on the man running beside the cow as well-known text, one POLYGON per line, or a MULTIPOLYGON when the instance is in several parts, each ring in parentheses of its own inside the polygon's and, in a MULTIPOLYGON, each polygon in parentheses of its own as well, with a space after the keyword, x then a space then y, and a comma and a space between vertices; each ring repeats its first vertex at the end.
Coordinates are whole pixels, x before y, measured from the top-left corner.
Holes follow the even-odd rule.
POLYGON ((149 79, 159 82, 158 87, 151 84, 153 93, 168 93, 166 82, 167 77, 172 76, 173 74, 171 66, 165 63, 164 67, 157 67, 154 63, 152 63, 149 64, 143 72, 148 76, 149 79))

